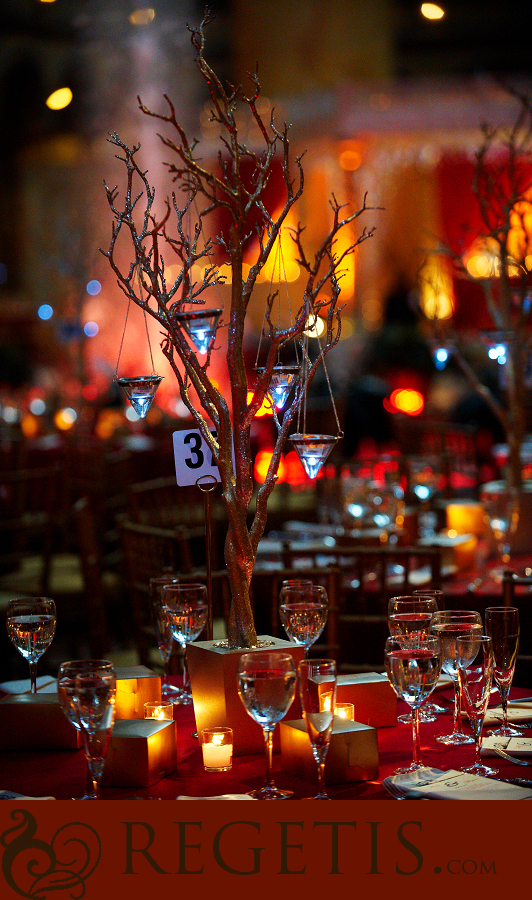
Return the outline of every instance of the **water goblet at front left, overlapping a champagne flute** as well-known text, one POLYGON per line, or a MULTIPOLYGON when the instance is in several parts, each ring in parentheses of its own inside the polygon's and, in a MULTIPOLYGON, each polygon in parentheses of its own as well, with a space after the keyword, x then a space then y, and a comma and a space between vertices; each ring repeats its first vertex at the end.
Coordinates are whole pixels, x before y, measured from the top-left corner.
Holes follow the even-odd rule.
POLYGON ((57 674, 57 694, 66 718, 74 728, 82 732, 93 789, 90 794, 85 794, 78 799, 97 800, 105 754, 114 723, 116 675, 113 664, 108 659, 74 659, 61 663, 57 674), (78 677, 89 679, 89 682, 78 682, 78 677), (92 703, 94 710, 92 719, 90 718, 89 696, 91 689, 97 694, 92 703), (80 693, 82 690, 83 700, 80 693), (85 706, 83 718, 79 711, 81 702, 85 706), (94 731, 92 738, 88 736, 90 728, 94 731))

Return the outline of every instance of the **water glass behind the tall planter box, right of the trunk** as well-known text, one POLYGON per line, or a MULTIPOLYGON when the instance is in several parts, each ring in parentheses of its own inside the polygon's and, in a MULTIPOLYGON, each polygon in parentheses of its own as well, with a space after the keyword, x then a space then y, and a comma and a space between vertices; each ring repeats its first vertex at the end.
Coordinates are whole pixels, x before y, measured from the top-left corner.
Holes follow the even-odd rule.
POLYGON ((279 615, 283 628, 293 644, 309 649, 321 635, 329 612, 327 591, 312 582, 291 582, 281 588, 279 615))

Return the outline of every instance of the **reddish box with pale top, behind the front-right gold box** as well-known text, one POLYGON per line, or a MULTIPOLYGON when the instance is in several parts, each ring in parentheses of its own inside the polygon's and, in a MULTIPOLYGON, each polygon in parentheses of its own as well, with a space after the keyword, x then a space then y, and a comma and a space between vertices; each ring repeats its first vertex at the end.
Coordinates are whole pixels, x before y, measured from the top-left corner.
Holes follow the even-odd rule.
POLYGON ((354 705, 355 722, 373 728, 397 725, 397 695, 386 675, 379 672, 339 675, 336 700, 354 705))

